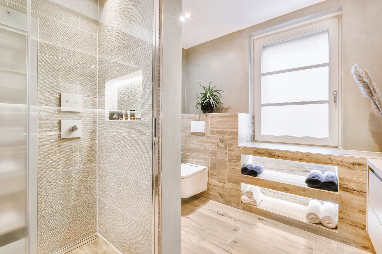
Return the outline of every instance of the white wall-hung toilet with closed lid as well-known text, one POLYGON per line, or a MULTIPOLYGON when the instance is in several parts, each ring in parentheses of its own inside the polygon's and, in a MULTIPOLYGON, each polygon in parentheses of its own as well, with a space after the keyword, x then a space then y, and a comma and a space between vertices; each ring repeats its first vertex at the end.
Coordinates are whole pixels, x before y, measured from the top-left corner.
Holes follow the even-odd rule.
POLYGON ((182 198, 188 198, 207 190, 208 168, 191 163, 182 163, 182 198))

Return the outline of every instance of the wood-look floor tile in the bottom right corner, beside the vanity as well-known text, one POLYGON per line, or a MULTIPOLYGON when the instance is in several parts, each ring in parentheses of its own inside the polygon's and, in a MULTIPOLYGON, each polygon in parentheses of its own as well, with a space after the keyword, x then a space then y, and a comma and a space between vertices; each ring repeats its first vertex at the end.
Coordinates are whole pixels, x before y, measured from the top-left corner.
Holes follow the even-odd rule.
POLYGON ((330 241, 322 237, 314 237, 313 254, 330 254, 330 253, 346 253, 346 254, 370 254, 369 252, 354 247, 347 246, 342 243, 330 241))

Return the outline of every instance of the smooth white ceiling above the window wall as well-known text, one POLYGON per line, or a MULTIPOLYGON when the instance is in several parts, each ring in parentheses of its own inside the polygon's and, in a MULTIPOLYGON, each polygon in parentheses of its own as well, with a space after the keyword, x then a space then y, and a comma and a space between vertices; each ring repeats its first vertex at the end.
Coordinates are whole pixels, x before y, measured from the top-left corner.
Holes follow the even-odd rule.
POLYGON ((268 19, 324 0, 182 0, 182 47, 203 42, 253 26, 268 19))

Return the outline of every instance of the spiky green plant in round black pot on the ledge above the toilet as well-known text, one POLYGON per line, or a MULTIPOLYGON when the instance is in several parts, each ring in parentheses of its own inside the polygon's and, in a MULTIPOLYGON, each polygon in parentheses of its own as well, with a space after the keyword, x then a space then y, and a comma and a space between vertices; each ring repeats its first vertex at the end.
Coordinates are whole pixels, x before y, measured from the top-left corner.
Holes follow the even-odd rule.
POLYGON ((219 91, 222 90, 215 89, 218 85, 211 88, 211 83, 212 81, 210 81, 207 88, 207 86, 203 86, 201 83, 195 81, 195 84, 201 86, 204 90, 203 93, 196 94, 197 98, 194 102, 195 110, 197 110, 200 106, 202 113, 204 114, 214 113, 217 107, 223 107, 223 103, 220 101, 222 99, 222 95, 219 93, 219 91))

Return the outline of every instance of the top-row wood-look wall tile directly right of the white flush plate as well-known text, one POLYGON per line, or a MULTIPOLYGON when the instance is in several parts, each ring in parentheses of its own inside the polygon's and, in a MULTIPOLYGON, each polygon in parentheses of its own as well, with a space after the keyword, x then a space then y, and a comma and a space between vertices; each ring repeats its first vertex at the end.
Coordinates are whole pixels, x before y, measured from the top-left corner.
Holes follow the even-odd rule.
POLYGON ((238 137, 238 114, 210 114, 210 135, 238 137))

